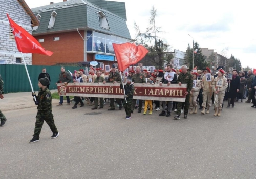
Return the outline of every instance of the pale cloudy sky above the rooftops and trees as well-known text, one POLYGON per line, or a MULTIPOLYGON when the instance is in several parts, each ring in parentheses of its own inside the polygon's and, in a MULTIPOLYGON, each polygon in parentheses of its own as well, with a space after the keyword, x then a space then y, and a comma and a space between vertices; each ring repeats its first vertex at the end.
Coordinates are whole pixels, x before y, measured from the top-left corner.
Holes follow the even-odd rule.
MULTIPOLYGON (((30 8, 44 6, 63 0, 26 0, 30 8)), ((71 1, 71 0, 69 0, 71 1)), ((156 26, 161 27, 158 36, 174 49, 186 51, 188 43, 199 43, 200 48, 214 49, 221 54, 228 49, 240 59, 242 67, 256 68, 256 17, 254 1, 166 1, 166 0, 116 0, 125 2, 127 26, 135 39, 136 23, 141 32, 148 27, 150 11, 157 10, 156 26), (189 35, 190 36, 189 36, 189 35)))

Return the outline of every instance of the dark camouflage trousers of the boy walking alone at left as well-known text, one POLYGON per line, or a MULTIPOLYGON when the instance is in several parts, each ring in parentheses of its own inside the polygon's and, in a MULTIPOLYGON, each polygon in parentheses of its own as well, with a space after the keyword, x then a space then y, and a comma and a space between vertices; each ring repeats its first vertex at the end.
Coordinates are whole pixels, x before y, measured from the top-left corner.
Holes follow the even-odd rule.
POLYGON ((36 122, 35 122, 35 131, 34 131, 34 137, 37 137, 39 139, 39 135, 41 133, 42 125, 44 124, 44 121, 49 125, 52 133, 57 133, 58 130, 54 124, 53 114, 52 110, 47 111, 37 111, 36 115, 36 122))

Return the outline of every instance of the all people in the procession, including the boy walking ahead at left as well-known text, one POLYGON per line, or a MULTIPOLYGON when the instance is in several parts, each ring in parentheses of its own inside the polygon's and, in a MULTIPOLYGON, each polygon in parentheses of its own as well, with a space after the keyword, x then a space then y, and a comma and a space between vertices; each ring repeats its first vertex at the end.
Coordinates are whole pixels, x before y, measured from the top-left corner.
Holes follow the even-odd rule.
MULTIPOLYGON (((207 67, 202 70, 193 72, 187 68, 186 65, 181 66, 181 69, 173 69, 171 64, 168 64, 164 70, 154 70, 150 73, 148 70, 142 70, 140 66, 136 67, 136 70, 130 70, 125 73, 117 71, 116 66, 113 65, 110 72, 102 71, 102 69, 90 68, 89 75, 84 74, 83 69, 74 71, 74 74, 70 74, 65 71, 64 67, 61 67, 61 73, 59 74, 59 80, 56 82, 67 85, 68 83, 120 83, 120 88, 125 91, 123 99, 114 98, 94 98, 94 97, 74 97, 74 106, 72 109, 76 109, 78 105, 84 106, 84 101, 87 100, 87 104, 95 109, 102 109, 106 103, 110 103, 108 110, 115 110, 118 107, 121 110, 123 107, 126 113, 126 119, 131 118, 131 114, 134 113, 134 109, 138 109, 138 113, 143 111, 143 115, 153 114, 153 103, 155 103, 155 110, 160 110, 160 103, 162 111, 159 116, 171 116, 171 111, 176 112, 174 119, 180 119, 181 113, 184 113, 184 118, 187 119, 189 114, 197 114, 198 106, 201 110, 201 114, 209 114, 211 105, 214 106, 214 116, 221 116, 223 109, 223 101, 227 101, 227 108, 234 107, 235 102, 243 102, 243 99, 248 97, 246 103, 253 103, 251 107, 256 108, 255 90, 256 90, 256 76, 254 76, 252 70, 248 72, 238 72, 236 69, 232 72, 224 72, 223 67, 219 66, 216 74, 212 74, 211 70, 207 67), (96 71, 96 73, 95 73, 96 71), (124 85, 122 85, 122 83, 124 85), (136 83, 149 83, 149 84, 187 84, 185 92, 185 102, 176 101, 152 101, 148 100, 136 100, 133 99, 134 89, 136 83), (126 99, 126 100, 125 100, 126 99), (115 102, 117 106, 115 106, 115 102), (144 106, 144 107, 143 107, 144 106), (189 111, 190 109, 190 111, 189 111)), ((41 132, 44 121, 47 122, 50 129, 53 132, 51 138, 56 138, 59 135, 57 127, 54 124, 52 115, 52 97, 51 92, 48 89, 50 84, 50 75, 46 72, 46 69, 42 69, 42 73, 38 77, 38 86, 40 88, 38 95, 32 92, 34 102, 37 106, 37 115, 35 130, 30 143, 39 141, 39 135, 41 132)), ((0 76, 0 98, 3 99, 3 80, 0 76)), ((67 105, 70 105, 70 98, 67 98, 67 105)), ((63 105, 63 96, 60 96, 60 102, 57 106, 63 105)), ((0 111, 1 124, 3 126, 6 122, 6 118, 0 111)))

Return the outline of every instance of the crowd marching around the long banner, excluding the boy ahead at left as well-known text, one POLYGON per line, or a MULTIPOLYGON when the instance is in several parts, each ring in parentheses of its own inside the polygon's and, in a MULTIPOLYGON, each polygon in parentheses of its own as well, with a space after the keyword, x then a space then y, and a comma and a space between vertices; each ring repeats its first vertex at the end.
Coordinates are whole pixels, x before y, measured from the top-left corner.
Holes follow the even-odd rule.
MULTIPOLYGON (((110 72, 103 71, 101 68, 90 68, 89 75, 85 75, 83 69, 79 69, 74 71, 72 76, 68 76, 69 73, 66 72, 64 68, 61 68, 59 81, 57 83, 69 83, 72 82, 72 80, 74 83, 120 83, 123 81, 127 88, 130 85, 136 85, 136 83, 159 84, 160 86, 162 86, 162 84, 187 84, 185 102, 135 99, 127 101, 127 106, 129 107, 124 107, 126 111, 126 119, 131 118, 131 113, 134 112, 134 109, 138 109, 138 113, 141 113, 144 109, 143 115, 147 114, 147 110, 149 110, 148 114, 153 114, 153 103, 155 103, 156 111, 159 111, 161 110, 160 108, 162 108, 159 116, 169 117, 171 116, 171 111, 174 111, 176 113, 174 119, 180 119, 181 113, 184 113, 185 119, 187 118, 188 113, 197 114, 198 106, 202 115, 209 114, 210 107, 213 106, 215 111, 214 116, 221 116, 223 101, 228 102, 227 108, 229 108, 230 105, 231 107, 234 107, 235 102, 238 102, 238 100, 243 102, 243 99, 247 96, 248 100, 245 102, 250 103, 252 100, 252 107, 256 107, 254 98, 256 79, 252 70, 249 70, 248 72, 238 72, 234 69, 232 72, 224 72, 223 67, 219 66, 219 68, 217 68, 217 73, 213 74, 208 67, 193 72, 188 69, 186 65, 183 65, 181 69, 173 69, 173 66, 168 64, 164 70, 154 70, 152 73, 148 70, 142 70, 140 66, 137 66, 135 71, 130 70, 126 73, 123 71, 118 72, 116 66, 113 65, 110 72)), ((123 88, 122 86, 120 87, 123 88)), ((129 98, 132 98, 132 88, 131 94, 129 95, 129 98)), ((94 105, 92 110, 101 109, 108 102, 110 102, 110 108, 108 110, 115 110, 115 107, 118 107, 121 110, 123 106, 126 106, 126 104, 124 105, 124 99, 75 97, 75 104, 72 108, 77 108, 77 105, 83 107, 85 100, 87 100, 89 106, 94 105), (116 106, 115 102, 117 103, 116 106)), ((60 103, 57 106, 63 105, 62 103, 63 97, 61 97, 60 103)), ((67 105, 70 105, 69 97, 67 97, 67 105)))

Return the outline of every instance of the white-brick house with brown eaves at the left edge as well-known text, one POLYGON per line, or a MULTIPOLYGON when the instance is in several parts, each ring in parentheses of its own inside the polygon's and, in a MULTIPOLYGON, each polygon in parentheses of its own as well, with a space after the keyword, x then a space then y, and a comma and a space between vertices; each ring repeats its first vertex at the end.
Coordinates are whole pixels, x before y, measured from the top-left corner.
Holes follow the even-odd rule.
MULTIPOLYGON (((31 26, 38 26, 39 21, 32 13, 24 0, 1 1, 0 11, 0 64, 21 64, 22 56, 10 28, 6 14, 9 14, 15 23, 31 33, 31 26)), ((23 54, 27 64, 32 64, 32 55, 23 54)))

